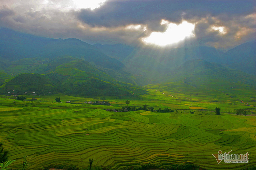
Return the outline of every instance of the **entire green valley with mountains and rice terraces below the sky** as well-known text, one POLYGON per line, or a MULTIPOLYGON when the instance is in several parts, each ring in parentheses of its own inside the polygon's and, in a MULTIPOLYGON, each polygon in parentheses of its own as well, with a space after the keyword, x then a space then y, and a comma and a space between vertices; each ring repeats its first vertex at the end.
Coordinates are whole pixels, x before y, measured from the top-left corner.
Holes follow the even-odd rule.
POLYGON ((256 166, 254 41, 224 53, 90 45, 3 28, 0 37, 0 143, 14 170, 24 155, 31 170, 86 169, 91 158, 95 169, 256 166), (230 62, 241 48, 246 67, 230 62), (248 152, 249 163, 218 164, 212 154, 220 150, 248 152))

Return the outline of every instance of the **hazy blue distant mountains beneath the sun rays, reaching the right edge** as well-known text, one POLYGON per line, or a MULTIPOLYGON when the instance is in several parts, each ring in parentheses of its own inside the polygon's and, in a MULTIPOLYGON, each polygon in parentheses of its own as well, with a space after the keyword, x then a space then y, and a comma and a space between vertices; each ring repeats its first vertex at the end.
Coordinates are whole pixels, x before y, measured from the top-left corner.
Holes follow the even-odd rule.
POLYGON ((226 53, 202 46, 186 46, 182 48, 147 48, 131 47, 124 44, 95 44, 103 53, 124 63, 127 70, 136 74, 156 75, 168 73, 188 60, 203 59, 249 74, 256 75, 256 41, 241 44, 226 53), (120 52, 122 49, 122 52, 120 52), (148 71, 149 70, 149 71, 148 71), (155 70, 152 72, 152 70, 155 70))

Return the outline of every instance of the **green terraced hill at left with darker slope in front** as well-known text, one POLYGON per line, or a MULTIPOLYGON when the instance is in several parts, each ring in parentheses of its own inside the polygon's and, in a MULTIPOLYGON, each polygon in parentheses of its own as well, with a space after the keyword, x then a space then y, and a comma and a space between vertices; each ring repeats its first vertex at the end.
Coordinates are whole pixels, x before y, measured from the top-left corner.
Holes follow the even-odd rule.
POLYGON ((4 93, 15 90, 36 91, 37 94, 50 91, 69 95, 120 96, 146 92, 139 86, 117 81, 91 63, 75 57, 57 57, 54 60, 40 57, 24 58, 16 62, 7 70, 21 74, 6 80, 0 87, 4 93))

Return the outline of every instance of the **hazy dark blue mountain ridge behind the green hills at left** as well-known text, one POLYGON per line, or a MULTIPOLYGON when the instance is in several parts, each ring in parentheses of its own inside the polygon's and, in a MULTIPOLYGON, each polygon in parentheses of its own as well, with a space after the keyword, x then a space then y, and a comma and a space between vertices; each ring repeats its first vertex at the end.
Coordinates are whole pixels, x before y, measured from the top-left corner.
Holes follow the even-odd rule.
POLYGON ((95 65, 120 70, 124 64, 78 39, 51 39, 7 28, 0 29, 0 56, 16 61, 23 58, 74 56, 95 65))

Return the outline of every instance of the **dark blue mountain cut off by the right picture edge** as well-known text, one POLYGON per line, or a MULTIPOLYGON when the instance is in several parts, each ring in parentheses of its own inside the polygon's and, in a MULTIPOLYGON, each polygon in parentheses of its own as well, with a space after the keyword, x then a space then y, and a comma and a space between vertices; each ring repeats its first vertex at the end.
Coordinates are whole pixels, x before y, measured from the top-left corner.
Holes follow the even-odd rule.
POLYGON ((223 64, 256 75, 256 40, 230 49, 222 55, 223 64))

